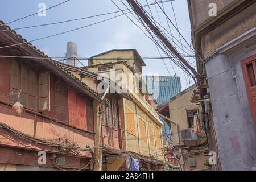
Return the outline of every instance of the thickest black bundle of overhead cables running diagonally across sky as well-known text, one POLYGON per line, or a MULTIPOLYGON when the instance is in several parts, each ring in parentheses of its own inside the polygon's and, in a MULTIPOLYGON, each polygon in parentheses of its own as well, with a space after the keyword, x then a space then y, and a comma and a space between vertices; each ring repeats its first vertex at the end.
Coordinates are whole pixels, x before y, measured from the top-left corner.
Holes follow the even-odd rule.
POLYGON ((134 0, 127 0, 127 2, 130 4, 131 7, 133 7, 135 13, 137 13, 141 19, 148 25, 148 27, 154 32, 156 36, 159 37, 160 40, 167 46, 169 51, 174 53, 174 55, 187 67, 195 77, 199 76, 196 70, 191 67, 191 65, 188 64, 188 62, 180 55, 179 52, 172 46, 172 44, 168 41, 166 36, 164 36, 158 28, 152 24, 152 22, 147 18, 147 16, 144 14, 144 12, 141 10, 141 7, 134 1, 134 0))

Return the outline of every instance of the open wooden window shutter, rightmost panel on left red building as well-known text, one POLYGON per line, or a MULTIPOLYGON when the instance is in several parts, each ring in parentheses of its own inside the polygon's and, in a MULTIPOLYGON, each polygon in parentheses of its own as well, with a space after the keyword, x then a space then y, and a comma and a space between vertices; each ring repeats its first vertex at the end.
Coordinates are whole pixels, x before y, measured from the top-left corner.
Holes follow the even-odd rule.
POLYGON ((38 111, 49 111, 49 71, 41 72, 38 76, 38 111))

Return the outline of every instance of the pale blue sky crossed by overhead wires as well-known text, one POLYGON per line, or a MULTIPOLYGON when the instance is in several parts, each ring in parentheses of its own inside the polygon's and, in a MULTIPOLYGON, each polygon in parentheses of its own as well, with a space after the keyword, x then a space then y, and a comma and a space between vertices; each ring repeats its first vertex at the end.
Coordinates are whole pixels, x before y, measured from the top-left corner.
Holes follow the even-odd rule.
MULTIPOLYGON (((12 20, 16 20, 24 16, 37 13, 40 10, 40 3, 44 3, 47 9, 64 1, 65 0, 1 1, 0 17, 3 22, 8 23, 12 20)), ((127 9, 121 1, 114 0, 114 2, 122 10, 127 9)), ((123 2, 126 4, 127 7, 130 8, 125 0, 123 0, 123 2)), ((139 2, 141 3, 141 5, 147 5, 147 2, 150 4, 152 2, 155 2, 155 0, 147 0, 147 2, 146 0, 139 0, 139 2)), ((174 12, 180 34, 190 44, 191 25, 189 21, 187 0, 174 0, 172 1, 172 5, 174 7, 174 12)), ((176 25, 171 2, 164 2, 163 6, 170 20, 176 25)), ((47 10, 46 16, 39 16, 38 14, 36 14, 34 16, 18 20, 17 22, 10 23, 8 25, 12 29, 14 29, 35 26, 39 24, 61 22, 64 20, 84 18, 87 16, 118 11, 118 7, 115 6, 111 0, 70 0, 63 3, 62 5, 47 10)), ((150 12, 148 7, 145 7, 145 9, 150 12)), ((166 16, 164 16, 162 10, 159 9, 158 5, 150 5, 150 10, 154 16, 154 19, 158 23, 162 24, 162 26, 165 27, 166 30, 169 30, 166 16)), ((15 31, 18 32, 18 34, 22 35, 22 37, 25 38, 27 41, 30 41, 45 36, 58 34, 60 32, 69 31, 74 28, 83 27, 88 24, 96 23, 121 14, 122 13, 115 13, 104 16, 97 16, 89 19, 76 20, 73 22, 26 28, 15 31)), ((129 18, 131 18, 136 24, 138 24, 139 27, 143 28, 131 13, 127 14, 127 16, 129 16, 129 18)), ((175 30, 174 26, 172 26, 170 22, 168 23, 172 31, 172 35, 179 40, 179 34, 175 30)), ((97 55, 98 53, 109 51, 110 49, 137 49, 141 57, 160 57, 158 49, 156 49, 154 42, 147 38, 147 36, 144 35, 143 32, 137 26, 135 26, 135 24, 131 22, 131 20, 128 19, 125 15, 107 20, 102 23, 94 24, 93 26, 81 28, 80 30, 68 32, 62 35, 52 36, 51 38, 37 40, 31 43, 38 49, 46 53, 49 57, 65 57, 67 42, 69 41, 75 42, 77 44, 78 57, 91 57, 97 55)), ((183 44, 186 44, 184 40, 181 40, 181 42, 183 44)), ((181 49, 177 48, 177 50, 180 53, 183 53, 181 49)), ((160 53, 163 57, 166 57, 163 52, 160 53)), ((187 59, 191 61, 191 63, 195 61, 193 60, 193 58, 187 59)), ((181 77, 181 86, 183 89, 194 83, 192 79, 188 78, 188 76, 183 71, 181 71, 180 68, 177 68, 174 63, 172 63, 172 65, 174 66, 174 68, 172 68, 170 60, 165 59, 164 61, 167 65, 167 68, 165 67, 162 59, 145 59, 144 62, 146 63, 146 67, 143 67, 143 73, 157 73, 160 76, 170 76, 170 74, 171 76, 174 76, 176 73, 177 76, 181 77)), ((88 65, 87 60, 81 60, 81 62, 84 65, 88 65)), ((195 67, 195 63, 192 63, 191 65, 195 67)))

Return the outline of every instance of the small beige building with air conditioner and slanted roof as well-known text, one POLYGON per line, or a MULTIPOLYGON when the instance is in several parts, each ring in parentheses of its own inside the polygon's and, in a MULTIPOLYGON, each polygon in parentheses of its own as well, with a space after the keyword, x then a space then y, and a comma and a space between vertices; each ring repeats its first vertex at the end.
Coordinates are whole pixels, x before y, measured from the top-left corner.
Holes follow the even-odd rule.
POLYGON ((204 166, 205 160, 209 159, 209 156, 207 156, 209 147, 204 123, 200 117, 201 106, 200 103, 192 103, 190 101, 195 89, 196 85, 192 85, 170 98, 158 106, 158 112, 166 117, 163 117, 163 119, 171 126, 174 144, 173 151, 177 158, 179 158, 181 169, 183 171, 209 171, 212 168, 204 166), (194 113, 198 115, 197 118, 201 131, 199 134, 194 134, 195 138, 187 138, 187 140, 185 135, 188 134, 185 133, 189 129, 194 132, 194 113))

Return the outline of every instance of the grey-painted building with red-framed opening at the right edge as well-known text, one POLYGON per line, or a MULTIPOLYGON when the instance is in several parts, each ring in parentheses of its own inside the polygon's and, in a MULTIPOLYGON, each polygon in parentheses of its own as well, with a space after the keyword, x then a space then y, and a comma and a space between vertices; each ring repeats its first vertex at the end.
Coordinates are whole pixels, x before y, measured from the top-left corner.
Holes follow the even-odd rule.
POLYGON ((188 0, 188 7, 197 69, 204 76, 201 98, 210 96, 218 165, 255 170, 256 2, 188 0), (216 16, 209 16, 209 3, 216 5, 216 16))

